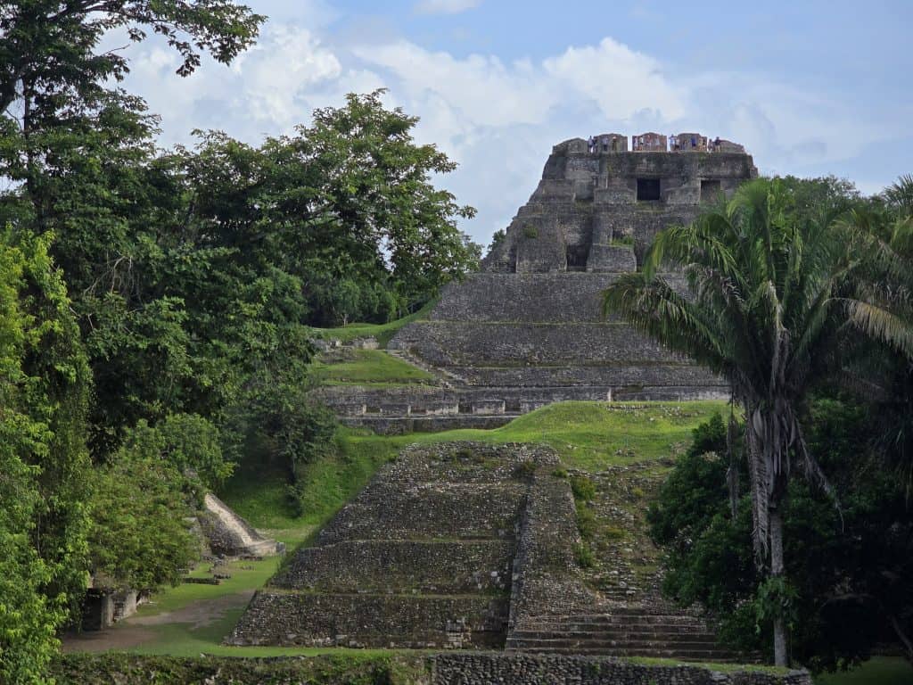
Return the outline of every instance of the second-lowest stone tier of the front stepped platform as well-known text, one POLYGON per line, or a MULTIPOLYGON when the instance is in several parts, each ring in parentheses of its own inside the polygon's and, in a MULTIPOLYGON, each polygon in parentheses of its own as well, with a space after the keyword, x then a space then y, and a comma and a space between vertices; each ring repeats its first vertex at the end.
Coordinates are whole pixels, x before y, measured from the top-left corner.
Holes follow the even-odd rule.
POLYGON ((510 585, 513 546, 500 540, 358 540, 312 547, 299 551, 269 585, 331 593, 499 592, 510 585))

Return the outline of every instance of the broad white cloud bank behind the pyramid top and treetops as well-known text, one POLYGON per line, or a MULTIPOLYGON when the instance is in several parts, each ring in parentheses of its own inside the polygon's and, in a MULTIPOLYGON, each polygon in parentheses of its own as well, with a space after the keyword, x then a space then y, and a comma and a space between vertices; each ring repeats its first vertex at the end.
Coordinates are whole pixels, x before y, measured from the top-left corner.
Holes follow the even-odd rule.
POLYGON ((535 189, 551 146, 568 138, 700 131, 743 142, 762 172, 796 173, 851 159, 895 131, 764 74, 677 74, 611 37, 505 61, 376 33, 333 43, 330 30, 270 24, 230 68, 207 58, 188 79, 174 75, 173 51, 150 40, 131 48, 125 86, 162 115, 164 143, 186 142, 194 128, 257 142, 308 123, 314 108, 338 106, 348 92, 386 87, 387 104, 421 118, 416 138, 460 164, 439 182, 477 206, 465 229, 484 243, 535 189))

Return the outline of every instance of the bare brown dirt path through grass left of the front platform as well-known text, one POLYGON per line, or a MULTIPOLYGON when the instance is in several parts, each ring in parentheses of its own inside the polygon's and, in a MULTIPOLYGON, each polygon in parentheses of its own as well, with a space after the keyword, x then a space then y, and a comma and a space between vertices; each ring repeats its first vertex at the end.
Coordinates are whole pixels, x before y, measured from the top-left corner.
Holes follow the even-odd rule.
POLYGON ((102 652, 109 649, 130 649, 139 647, 157 637, 150 626, 169 623, 186 623, 193 628, 208 626, 224 617, 226 611, 247 606, 254 595, 245 590, 233 595, 205 599, 183 606, 176 611, 167 611, 154 616, 131 616, 107 630, 94 630, 67 635, 63 638, 64 652, 102 652))

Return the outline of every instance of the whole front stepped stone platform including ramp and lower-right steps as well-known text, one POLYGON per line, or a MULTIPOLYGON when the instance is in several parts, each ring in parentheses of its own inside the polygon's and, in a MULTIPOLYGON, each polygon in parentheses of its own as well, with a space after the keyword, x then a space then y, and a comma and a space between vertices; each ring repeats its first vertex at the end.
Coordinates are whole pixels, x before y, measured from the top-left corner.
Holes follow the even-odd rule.
POLYGON ((406 448, 255 595, 227 641, 734 660, 655 588, 594 588, 557 465, 525 445, 406 448))

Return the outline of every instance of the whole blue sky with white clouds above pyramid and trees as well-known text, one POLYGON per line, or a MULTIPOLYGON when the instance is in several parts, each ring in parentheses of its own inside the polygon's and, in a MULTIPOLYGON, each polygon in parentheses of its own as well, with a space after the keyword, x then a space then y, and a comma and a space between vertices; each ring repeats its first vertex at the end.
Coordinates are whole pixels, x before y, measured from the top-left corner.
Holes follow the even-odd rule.
POLYGON ((416 138, 460 167, 439 183, 479 209, 477 241, 535 188, 551 145, 596 132, 700 131, 765 174, 836 174, 875 193, 913 172, 913 2, 247 0, 257 47, 189 79, 154 41, 125 84, 162 142, 217 128, 247 142, 346 92, 389 89, 416 138))

